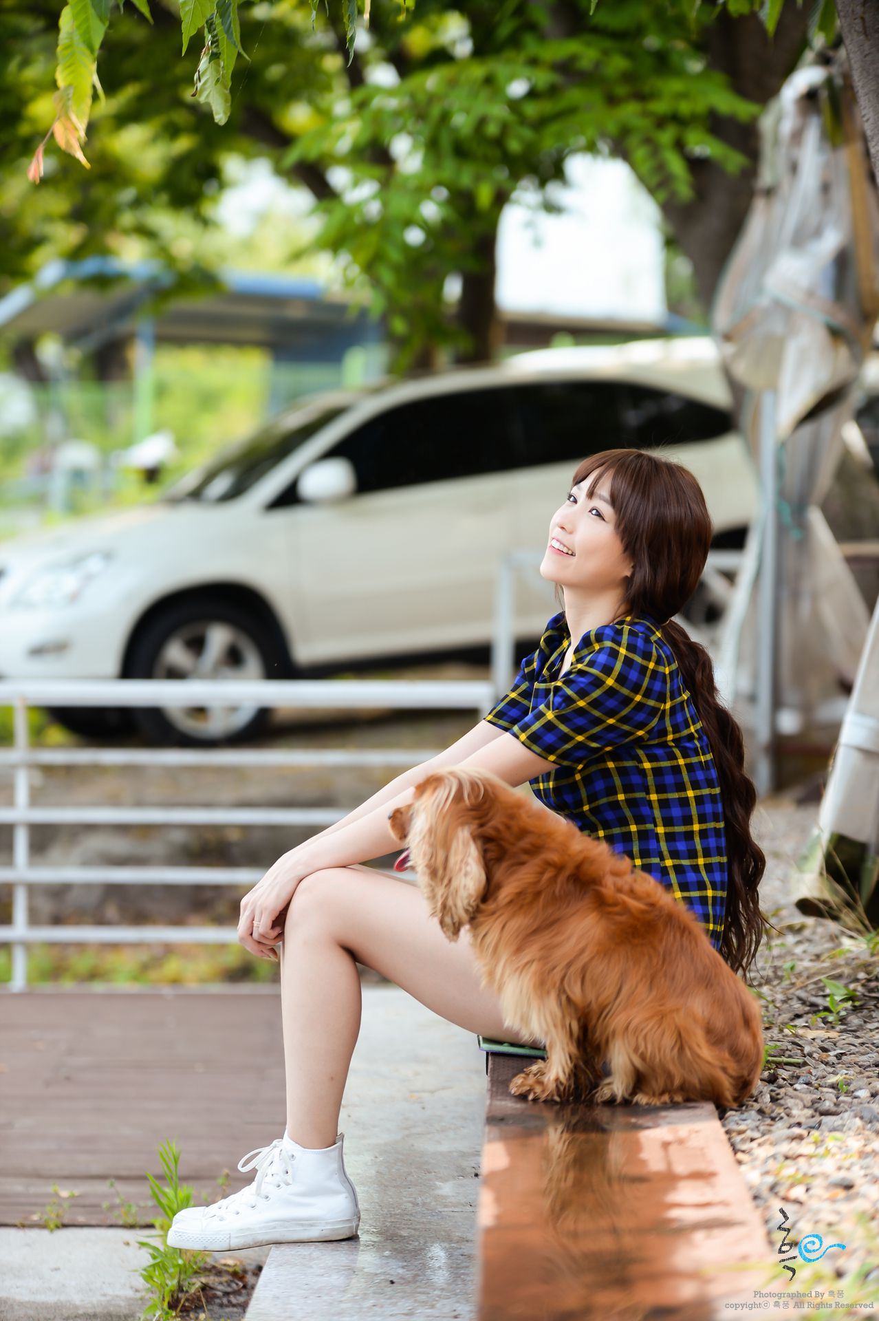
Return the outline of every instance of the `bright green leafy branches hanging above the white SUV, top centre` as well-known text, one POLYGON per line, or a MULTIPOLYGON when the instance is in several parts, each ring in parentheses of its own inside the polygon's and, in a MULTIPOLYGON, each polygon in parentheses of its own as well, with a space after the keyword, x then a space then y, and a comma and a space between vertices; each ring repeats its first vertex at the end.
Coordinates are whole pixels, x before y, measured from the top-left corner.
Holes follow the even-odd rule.
MULTIPOLYGON (((585 3, 574 8, 585 15, 585 3)), ((371 308, 403 346, 397 367, 422 343, 469 351, 469 328, 443 306, 449 277, 484 266, 513 196, 557 209, 570 155, 627 160, 660 205, 693 197, 693 160, 748 164, 711 132, 714 116, 747 122, 760 107, 706 66, 707 15, 690 22, 656 8, 649 40, 640 0, 614 0, 565 37, 550 36, 538 5, 508 4, 482 21, 472 5, 454 24, 425 3, 418 16, 404 41, 387 34, 397 81, 364 78, 333 114, 314 112, 281 159, 344 172, 344 186, 318 199, 318 242, 344 254, 351 287, 370 276, 371 308)), ((372 53, 364 65, 368 74, 372 53)))

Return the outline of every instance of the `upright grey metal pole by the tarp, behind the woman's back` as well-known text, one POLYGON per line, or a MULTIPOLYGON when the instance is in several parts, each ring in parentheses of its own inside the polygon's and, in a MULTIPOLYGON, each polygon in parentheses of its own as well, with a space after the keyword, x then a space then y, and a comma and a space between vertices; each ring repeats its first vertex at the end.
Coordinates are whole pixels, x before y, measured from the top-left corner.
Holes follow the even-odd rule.
POLYGON ((776 395, 762 390, 758 403, 760 437, 760 487, 763 493, 763 544, 758 584, 755 774, 759 795, 776 783, 775 713, 777 705, 779 634, 779 513, 776 395))

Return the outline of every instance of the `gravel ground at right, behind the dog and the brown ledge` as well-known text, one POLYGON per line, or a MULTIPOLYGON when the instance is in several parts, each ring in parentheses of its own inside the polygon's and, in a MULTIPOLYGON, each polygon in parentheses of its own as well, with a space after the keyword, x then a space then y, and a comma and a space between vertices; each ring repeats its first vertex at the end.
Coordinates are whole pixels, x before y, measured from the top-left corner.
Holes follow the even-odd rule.
POLYGON ((795 906, 796 860, 816 816, 814 802, 788 793, 760 799, 752 818, 767 855, 760 906, 779 931, 760 946, 751 982, 765 1042, 779 1049, 756 1094, 721 1122, 779 1251, 769 1288, 825 1291, 822 1310, 804 1304, 810 1316, 863 1316, 879 1310, 879 945, 795 906), (822 978, 857 999, 831 1013, 822 978), (793 1280, 781 1262, 797 1243, 814 1264, 797 1256, 793 1280))

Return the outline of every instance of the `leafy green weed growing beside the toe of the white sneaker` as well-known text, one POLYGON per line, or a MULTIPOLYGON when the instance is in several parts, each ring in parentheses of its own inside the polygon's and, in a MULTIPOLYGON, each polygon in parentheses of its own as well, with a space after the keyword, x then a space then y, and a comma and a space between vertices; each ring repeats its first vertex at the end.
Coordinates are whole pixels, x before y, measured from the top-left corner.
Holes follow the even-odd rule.
POLYGON ((181 1184, 179 1151, 176 1141, 162 1143, 158 1159, 165 1172, 165 1186, 152 1174, 146 1174, 160 1214, 153 1217, 160 1242, 150 1243, 139 1239, 137 1246, 145 1247, 150 1260, 141 1268, 141 1279, 150 1291, 149 1301, 141 1313, 141 1321, 174 1321, 185 1299, 199 1288, 199 1275, 203 1272, 207 1252, 187 1251, 168 1246, 168 1230, 177 1211, 193 1205, 193 1189, 181 1184))

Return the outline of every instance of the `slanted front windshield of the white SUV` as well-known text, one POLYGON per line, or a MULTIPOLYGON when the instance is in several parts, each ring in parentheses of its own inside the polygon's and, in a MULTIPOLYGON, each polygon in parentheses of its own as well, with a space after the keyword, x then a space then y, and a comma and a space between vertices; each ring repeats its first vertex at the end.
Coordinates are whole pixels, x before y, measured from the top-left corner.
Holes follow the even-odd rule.
POLYGON ((199 499, 211 503, 235 499, 249 490, 255 482, 265 477, 281 460, 298 449, 322 427, 344 412, 348 406, 309 411, 308 416, 296 424, 296 416, 275 417, 255 436, 227 450, 198 472, 190 473, 166 491, 166 499, 199 499))

